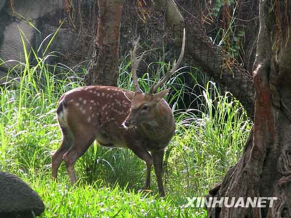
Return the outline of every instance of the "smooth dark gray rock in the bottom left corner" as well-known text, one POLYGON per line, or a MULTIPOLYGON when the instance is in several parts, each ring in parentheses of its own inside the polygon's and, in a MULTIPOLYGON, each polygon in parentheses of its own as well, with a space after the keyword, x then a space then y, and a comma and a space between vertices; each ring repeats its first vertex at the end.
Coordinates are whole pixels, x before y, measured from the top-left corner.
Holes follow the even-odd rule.
POLYGON ((39 216, 44 210, 44 203, 31 187, 15 175, 0 172, 0 218, 33 218, 33 213, 39 216))

